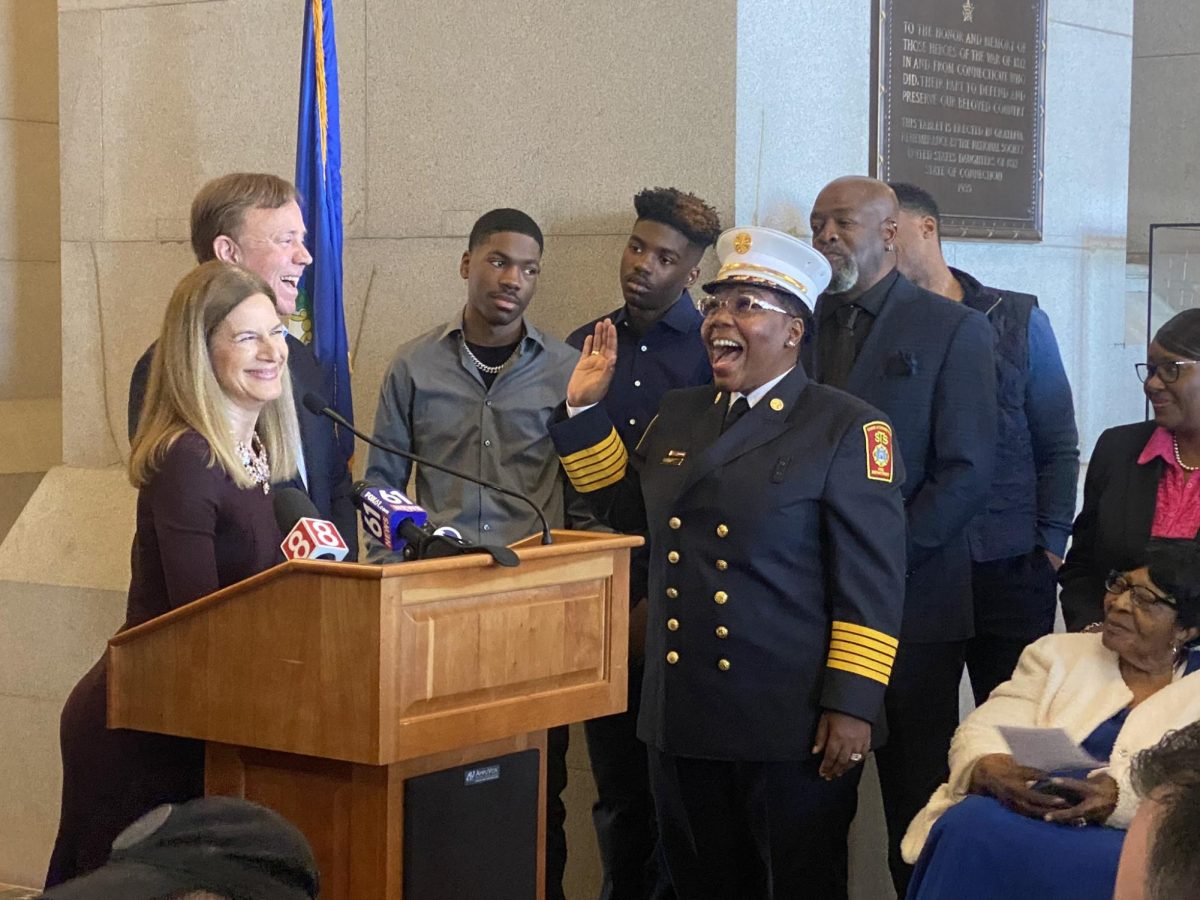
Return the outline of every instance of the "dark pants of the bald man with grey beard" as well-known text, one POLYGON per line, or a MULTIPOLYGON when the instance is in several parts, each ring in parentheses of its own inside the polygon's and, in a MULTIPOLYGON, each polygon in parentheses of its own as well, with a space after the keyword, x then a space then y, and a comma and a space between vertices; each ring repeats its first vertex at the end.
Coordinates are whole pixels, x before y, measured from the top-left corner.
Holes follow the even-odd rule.
POLYGON ((947 755, 959 725, 959 682, 965 641, 900 642, 883 695, 887 744, 875 751, 888 826, 888 868, 896 895, 907 890, 912 866, 900 858, 908 823, 949 776, 947 755))

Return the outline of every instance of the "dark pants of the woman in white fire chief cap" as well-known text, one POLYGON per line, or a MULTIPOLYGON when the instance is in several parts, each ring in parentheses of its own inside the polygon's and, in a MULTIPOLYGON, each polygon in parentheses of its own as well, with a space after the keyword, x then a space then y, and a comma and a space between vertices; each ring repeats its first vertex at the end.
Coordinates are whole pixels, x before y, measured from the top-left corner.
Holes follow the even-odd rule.
POLYGON ((862 767, 833 781, 804 762, 725 762, 649 749, 650 786, 680 900, 839 900, 862 767))

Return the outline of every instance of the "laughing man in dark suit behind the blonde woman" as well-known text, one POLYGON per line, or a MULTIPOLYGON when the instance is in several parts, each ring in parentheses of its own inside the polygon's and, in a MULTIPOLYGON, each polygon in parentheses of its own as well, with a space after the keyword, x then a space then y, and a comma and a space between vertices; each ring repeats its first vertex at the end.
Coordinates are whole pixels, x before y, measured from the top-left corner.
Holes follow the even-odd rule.
MULTIPOLYGON (((300 196, 292 182, 263 173, 233 173, 205 184, 192 200, 192 251, 198 263, 221 259, 260 275, 275 294, 275 311, 287 319, 296 310, 300 275, 312 257, 305 248, 300 196)), ((150 377, 150 344, 130 378, 130 440, 138 430, 142 401, 150 377)), ((276 487, 299 487, 322 518, 328 518, 359 553, 358 521, 350 499, 350 468, 337 443, 334 424, 310 413, 302 401, 310 391, 329 396, 326 376, 302 341, 288 335, 288 372, 300 422, 300 472, 276 487)))

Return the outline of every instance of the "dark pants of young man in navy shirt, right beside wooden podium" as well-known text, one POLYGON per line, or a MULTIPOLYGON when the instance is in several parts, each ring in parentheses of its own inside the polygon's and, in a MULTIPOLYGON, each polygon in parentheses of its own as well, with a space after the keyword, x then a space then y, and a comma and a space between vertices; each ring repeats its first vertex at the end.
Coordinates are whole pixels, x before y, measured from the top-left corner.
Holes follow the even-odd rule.
POLYGON ((637 739, 644 671, 642 662, 630 662, 626 712, 583 724, 596 780, 592 822, 604 869, 600 900, 674 896, 659 847, 646 744, 637 739))

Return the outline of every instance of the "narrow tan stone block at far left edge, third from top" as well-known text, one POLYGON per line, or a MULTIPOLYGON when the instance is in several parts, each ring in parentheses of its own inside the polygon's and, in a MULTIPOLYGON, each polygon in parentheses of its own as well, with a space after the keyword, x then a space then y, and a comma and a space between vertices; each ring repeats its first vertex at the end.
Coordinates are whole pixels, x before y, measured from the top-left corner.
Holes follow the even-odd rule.
POLYGON ((0 259, 0 398, 59 396, 60 312, 56 262, 0 259))

